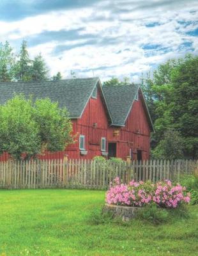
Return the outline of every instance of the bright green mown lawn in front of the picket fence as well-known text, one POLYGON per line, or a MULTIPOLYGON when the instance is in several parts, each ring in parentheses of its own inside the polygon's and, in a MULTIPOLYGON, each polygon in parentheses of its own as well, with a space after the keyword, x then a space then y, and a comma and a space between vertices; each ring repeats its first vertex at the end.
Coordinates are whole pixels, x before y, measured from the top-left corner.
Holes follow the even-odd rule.
POLYGON ((103 191, 0 191, 0 255, 195 255, 197 205, 191 217, 163 225, 90 221, 103 191))

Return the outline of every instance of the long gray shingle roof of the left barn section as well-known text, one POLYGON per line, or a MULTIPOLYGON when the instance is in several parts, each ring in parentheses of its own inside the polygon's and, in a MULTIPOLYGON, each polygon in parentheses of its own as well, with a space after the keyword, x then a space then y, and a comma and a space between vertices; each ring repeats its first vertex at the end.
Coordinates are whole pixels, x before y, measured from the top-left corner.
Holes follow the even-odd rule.
POLYGON ((49 97, 53 102, 58 102, 60 108, 66 107, 71 118, 79 118, 98 81, 98 77, 93 77, 60 81, 0 83, 0 104, 11 99, 15 93, 24 93, 26 97, 33 95, 33 99, 49 97))

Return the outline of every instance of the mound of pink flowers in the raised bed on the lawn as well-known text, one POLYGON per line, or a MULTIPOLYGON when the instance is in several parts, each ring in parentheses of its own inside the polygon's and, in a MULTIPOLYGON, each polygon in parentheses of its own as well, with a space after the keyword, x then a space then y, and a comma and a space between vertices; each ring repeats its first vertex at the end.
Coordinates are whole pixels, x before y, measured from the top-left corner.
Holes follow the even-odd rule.
POLYGON ((130 205, 144 207, 154 203, 164 208, 176 208, 180 204, 190 202, 190 194, 185 187, 177 184, 173 186, 170 180, 152 184, 151 182, 135 182, 123 184, 117 177, 106 194, 107 204, 130 205))

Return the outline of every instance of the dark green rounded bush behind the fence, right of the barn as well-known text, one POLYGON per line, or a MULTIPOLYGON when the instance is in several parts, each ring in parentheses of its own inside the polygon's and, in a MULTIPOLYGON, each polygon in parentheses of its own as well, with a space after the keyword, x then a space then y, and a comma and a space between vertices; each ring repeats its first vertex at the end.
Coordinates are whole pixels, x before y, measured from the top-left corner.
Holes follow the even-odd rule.
POLYGON ((156 159, 182 159, 183 139, 178 131, 167 129, 164 138, 153 150, 152 155, 156 159))

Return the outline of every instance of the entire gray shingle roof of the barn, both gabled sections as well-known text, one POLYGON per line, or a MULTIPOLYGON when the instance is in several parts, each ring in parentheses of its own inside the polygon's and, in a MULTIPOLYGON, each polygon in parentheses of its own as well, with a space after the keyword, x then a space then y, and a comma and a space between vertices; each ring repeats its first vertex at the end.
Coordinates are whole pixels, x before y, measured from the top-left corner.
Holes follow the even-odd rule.
MULTIPOLYGON (((26 97, 31 95, 33 99, 48 97, 52 102, 58 102, 60 108, 67 108, 70 118, 80 118, 96 84, 102 88, 111 125, 124 126, 135 95, 138 90, 141 90, 138 84, 116 86, 116 88, 115 86, 101 86, 98 77, 72 78, 60 81, 0 82, 0 104, 11 99, 15 93, 23 93, 26 97)), ((144 106, 148 113, 151 129, 153 129, 145 100, 144 106)))

